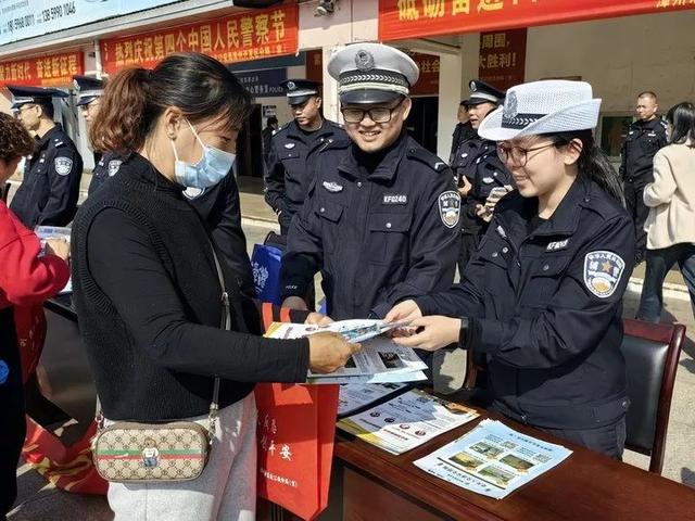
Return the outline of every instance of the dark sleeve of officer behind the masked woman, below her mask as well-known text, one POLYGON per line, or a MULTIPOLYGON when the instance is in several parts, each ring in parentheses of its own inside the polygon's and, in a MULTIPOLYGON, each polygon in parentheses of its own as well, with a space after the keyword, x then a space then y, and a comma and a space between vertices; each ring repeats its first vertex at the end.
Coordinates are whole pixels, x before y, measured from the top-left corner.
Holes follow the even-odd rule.
POLYGON ((229 263, 237 278, 237 283, 248 296, 255 295, 251 260, 247 253, 247 236, 241 228, 241 208, 239 204, 239 187, 230 173, 223 181, 222 201, 211 226, 211 236, 224 259, 229 263))

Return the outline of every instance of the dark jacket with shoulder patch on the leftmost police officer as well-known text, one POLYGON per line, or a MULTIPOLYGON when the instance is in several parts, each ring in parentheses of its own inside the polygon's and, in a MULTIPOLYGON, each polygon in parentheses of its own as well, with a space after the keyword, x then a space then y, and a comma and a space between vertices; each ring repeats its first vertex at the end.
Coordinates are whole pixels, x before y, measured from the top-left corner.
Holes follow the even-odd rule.
POLYGON ((77 212, 83 158, 72 139, 55 125, 36 140, 26 158, 24 180, 10 208, 27 228, 66 226, 77 212))

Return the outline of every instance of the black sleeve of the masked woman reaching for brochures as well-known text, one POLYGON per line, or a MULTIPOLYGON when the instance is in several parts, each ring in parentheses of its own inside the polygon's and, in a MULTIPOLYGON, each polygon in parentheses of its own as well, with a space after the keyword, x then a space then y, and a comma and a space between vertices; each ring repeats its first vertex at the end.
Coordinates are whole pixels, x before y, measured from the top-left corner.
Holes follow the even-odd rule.
POLYGON ((125 213, 101 212, 87 244, 96 282, 136 344, 156 364, 239 382, 306 380, 306 339, 264 339, 191 321, 147 232, 125 213))

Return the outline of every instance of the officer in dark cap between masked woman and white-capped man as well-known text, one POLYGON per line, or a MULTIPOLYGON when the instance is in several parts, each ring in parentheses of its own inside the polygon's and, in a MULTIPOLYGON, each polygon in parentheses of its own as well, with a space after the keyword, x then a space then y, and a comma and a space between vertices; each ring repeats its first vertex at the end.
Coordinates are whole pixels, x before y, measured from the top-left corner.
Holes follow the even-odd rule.
POLYGON ((270 139, 266 170, 265 200, 278 215, 286 236, 292 216, 302 208, 314 179, 316 154, 326 143, 345 139, 337 123, 321 116, 320 84, 308 79, 288 79, 281 84, 294 120, 270 139))

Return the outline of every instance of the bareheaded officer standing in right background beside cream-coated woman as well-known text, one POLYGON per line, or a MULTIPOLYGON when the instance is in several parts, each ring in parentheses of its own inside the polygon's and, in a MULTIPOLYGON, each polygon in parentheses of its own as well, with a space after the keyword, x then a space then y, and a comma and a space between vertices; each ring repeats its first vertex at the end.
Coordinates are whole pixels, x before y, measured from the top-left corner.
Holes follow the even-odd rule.
POLYGON ((621 151, 620 174, 626 187, 626 206, 635 229, 635 264, 640 264, 646 254, 644 221, 649 208, 642 199, 644 187, 654 182, 654 156, 668 142, 666 122, 657 116, 658 110, 654 92, 637 96, 637 120, 630 125, 621 151))

